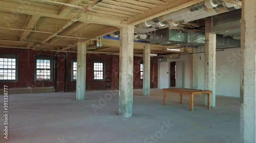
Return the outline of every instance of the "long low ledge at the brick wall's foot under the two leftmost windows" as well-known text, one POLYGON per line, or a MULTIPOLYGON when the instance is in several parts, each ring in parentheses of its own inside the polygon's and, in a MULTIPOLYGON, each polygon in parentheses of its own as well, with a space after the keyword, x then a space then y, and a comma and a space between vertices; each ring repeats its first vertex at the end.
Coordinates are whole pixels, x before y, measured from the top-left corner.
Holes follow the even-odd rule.
MULTIPOLYGON (((26 94, 26 93, 52 93, 54 87, 42 87, 42 88, 13 88, 8 89, 8 94, 26 94)), ((0 89, 0 95, 4 94, 4 89, 0 89)))

